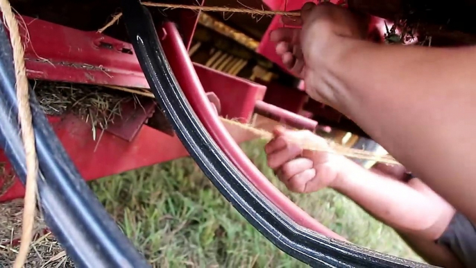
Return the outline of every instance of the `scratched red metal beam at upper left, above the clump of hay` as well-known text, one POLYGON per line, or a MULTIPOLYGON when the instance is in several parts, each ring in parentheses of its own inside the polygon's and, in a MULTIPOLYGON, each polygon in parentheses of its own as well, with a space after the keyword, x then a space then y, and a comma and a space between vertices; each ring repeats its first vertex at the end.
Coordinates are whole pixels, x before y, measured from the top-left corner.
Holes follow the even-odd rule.
POLYGON ((29 78, 147 87, 130 44, 41 19, 23 19, 28 28, 25 58, 29 78))

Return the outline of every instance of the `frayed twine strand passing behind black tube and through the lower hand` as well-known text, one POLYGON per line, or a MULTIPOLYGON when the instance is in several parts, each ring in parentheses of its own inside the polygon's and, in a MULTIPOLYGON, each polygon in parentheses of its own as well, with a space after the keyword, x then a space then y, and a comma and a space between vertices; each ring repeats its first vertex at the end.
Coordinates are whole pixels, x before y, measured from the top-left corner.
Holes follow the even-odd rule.
MULTIPOLYGON (((113 85, 108 85, 106 87, 110 87, 114 90, 122 90, 125 92, 130 92, 134 94, 139 94, 144 97, 150 97, 154 98, 154 95, 151 92, 142 92, 139 90, 133 90, 127 87, 118 87, 118 86, 113 86, 113 85)), ((225 124, 229 124, 232 126, 237 126, 245 131, 248 131, 250 133, 253 133, 257 137, 261 137, 262 139, 265 140, 271 140, 274 135, 273 133, 270 133, 269 131, 265 131, 263 129, 255 128, 253 126, 250 126, 248 124, 243 124, 241 122, 237 122, 232 119, 226 119, 223 117, 219 117, 221 122, 225 124)), ((370 151, 365 151, 361 149, 353 149, 353 148, 348 148, 346 146, 336 144, 334 142, 328 142, 328 148, 324 148, 323 146, 318 146, 314 142, 308 142, 308 141, 303 141, 303 140, 289 140, 289 142, 292 142, 294 144, 298 144, 305 150, 309 151, 321 151, 325 153, 336 153, 341 156, 346 156, 348 158, 355 158, 355 159, 362 159, 362 160, 371 160, 375 162, 382 162, 386 164, 391 164, 391 165, 400 165, 400 163, 395 160, 395 158, 392 158, 391 156, 378 156, 377 154, 370 152, 370 151)))

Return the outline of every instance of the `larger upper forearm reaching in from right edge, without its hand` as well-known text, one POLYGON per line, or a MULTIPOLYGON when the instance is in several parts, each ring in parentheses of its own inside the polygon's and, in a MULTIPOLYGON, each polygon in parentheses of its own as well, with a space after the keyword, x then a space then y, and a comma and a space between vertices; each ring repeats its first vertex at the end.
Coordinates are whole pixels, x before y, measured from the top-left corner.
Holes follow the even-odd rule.
POLYGON ((355 48, 331 68, 339 108, 476 222, 476 49, 355 48))

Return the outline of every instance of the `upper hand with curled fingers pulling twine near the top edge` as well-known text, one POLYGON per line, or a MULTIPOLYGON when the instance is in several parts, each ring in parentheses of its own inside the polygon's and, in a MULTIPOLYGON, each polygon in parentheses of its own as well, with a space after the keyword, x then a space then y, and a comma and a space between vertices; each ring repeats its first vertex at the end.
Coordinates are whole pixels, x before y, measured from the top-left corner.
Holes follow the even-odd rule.
POLYGON ((271 32, 276 53, 283 64, 303 78, 312 99, 338 106, 337 62, 355 49, 355 42, 368 35, 369 18, 332 3, 305 3, 298 19, 282 17, 284 24, 301 28, 279 28, 271 32))

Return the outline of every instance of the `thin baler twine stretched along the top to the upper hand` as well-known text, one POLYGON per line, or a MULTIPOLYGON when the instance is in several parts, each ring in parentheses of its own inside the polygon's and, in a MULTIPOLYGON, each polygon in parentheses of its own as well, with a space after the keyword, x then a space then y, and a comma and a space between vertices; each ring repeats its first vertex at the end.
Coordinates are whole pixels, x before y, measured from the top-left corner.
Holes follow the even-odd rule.
MULTIPOLYGON (((193 5, 178 5, 174 3, 153 3, 153 2, 142 2, 143 6, 152 6, 156 8, 165 8, 165 9, 188 9, 196 11, 206 11, 206 12, 232 12, 232 13, 245 13, 249 15, 261 15, 261 16, 274 16, 282 15, 288 17, 299 17, 300 12, 298 11, 282 11, 282 10, 260 10, 255 8, 228 8, 226 6, 193 6, 193 5)), ((122 17, 122 13, 114 15, 110 22, 105 24, 103 28, 98 30, 98 33, 103 33, 105 29, 112 26, 112 24, 119 21, 122 17)))

